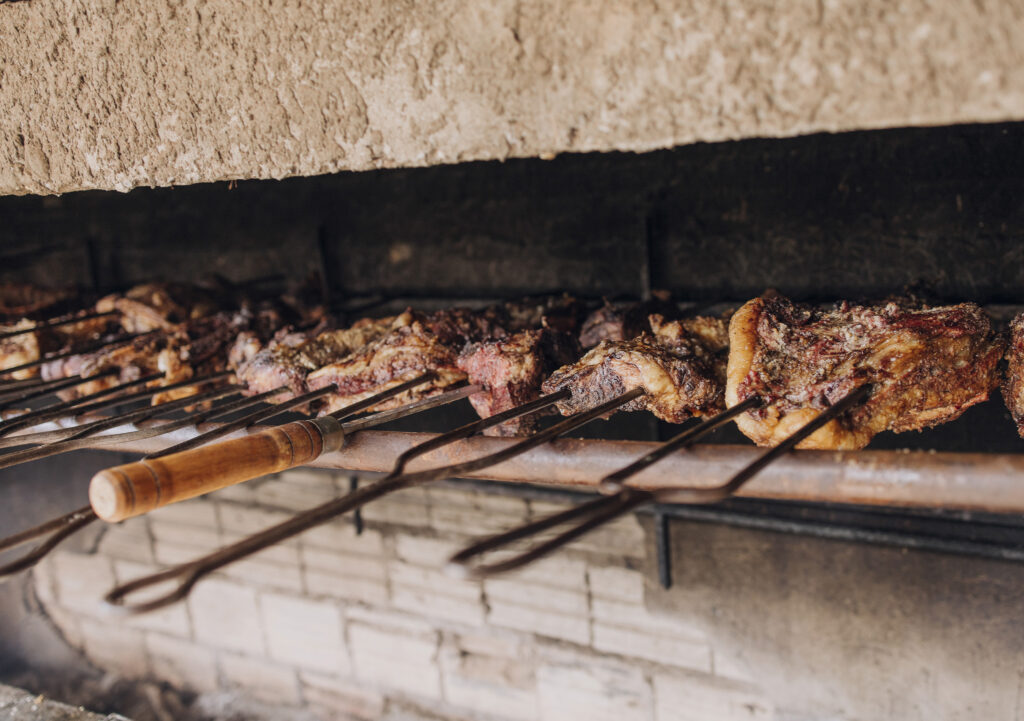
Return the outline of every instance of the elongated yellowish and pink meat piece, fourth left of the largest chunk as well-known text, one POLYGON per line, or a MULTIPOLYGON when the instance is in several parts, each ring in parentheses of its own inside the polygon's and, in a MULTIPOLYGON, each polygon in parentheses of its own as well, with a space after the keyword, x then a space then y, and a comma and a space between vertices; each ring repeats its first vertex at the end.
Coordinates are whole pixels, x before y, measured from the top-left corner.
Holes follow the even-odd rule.
MULTIPOLYGON (((312 338, 286 332, 242 363, 236 375, 253 394, 287 386, 298 395, 308 390, 306 377, 310 373, 341 360, 380 338, 394 323, 394 317, 364 319, 351 328, 326 331, 312 338)), ((238 351, 239 354, 242 352, 238 351)))

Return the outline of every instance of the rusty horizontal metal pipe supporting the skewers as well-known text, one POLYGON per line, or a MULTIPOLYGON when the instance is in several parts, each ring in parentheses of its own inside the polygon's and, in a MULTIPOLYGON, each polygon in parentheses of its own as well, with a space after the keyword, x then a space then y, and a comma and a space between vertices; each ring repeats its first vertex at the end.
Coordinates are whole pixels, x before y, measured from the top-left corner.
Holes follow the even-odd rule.
MULTIPOLYGON (((187 429, 116 448, 151 453, 195 434, 194 429, 187 429)), ((362 431, 352 435, 341 451, 322 456, 312 465, 385 472, 391 469, 398 454, 434 436, 434 433, 362 431)), ((461 440, 418 459, 411 464, 411 469, 460 463, 514 442, 515 438, 486 436, 461 440)), ((104 439, 97 436, 95 447, 103 444, 104 439)), ((657 446, 647 441, 564 438, 467 477, 594 487, 611 471, 632 463, 657 446)), ((643 489, 718 485, 761 453, 750 446, 697 446, 672 454, 638 473, 631 484, 643 489)), ((788 501, 1024 513, 1024 454, 797 451, 766 468, 739 495, 788 501)))

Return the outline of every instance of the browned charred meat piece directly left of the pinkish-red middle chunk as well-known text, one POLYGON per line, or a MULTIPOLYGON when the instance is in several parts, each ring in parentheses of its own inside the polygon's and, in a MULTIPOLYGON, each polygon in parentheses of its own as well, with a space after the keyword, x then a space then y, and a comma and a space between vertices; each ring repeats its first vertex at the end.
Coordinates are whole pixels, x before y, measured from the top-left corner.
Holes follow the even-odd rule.
POLYGON ((375 411, 395 408, 425 397, 466 378, 456 365, 458 351, 442 343, 423 315, 406 311, 398 315, 385 335, 362 346, 346 358, 310 373, 310 390, 337 385, 328 396, 327 412, 369 397, 427 371, 437 378, 374 407, 375 411))

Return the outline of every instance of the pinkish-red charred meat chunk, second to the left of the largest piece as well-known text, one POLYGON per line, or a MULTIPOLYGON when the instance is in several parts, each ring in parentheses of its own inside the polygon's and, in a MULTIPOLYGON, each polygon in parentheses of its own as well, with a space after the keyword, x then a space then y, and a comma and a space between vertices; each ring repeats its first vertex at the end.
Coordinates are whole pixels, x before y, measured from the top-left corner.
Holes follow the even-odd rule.
MULTIPOLYGON (((544 329, 471 343, 463 348, 457 365, 470 383, 483 386, 484 390, 470 395, 469 401, 480 418, 489 418, 539 398, 544 378, 579 356, 579 345, 570 335, 544 329)), ((536 429, 539 415, 514 418, 484 433, 525 435, 536 429)))

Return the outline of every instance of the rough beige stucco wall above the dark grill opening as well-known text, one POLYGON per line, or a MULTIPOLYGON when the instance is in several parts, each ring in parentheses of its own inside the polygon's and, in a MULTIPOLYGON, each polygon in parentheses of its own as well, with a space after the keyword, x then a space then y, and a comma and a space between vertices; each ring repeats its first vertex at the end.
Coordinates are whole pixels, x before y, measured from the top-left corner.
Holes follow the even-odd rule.
POLYGON ((0 193, 1024 118, 998 0, 0 3, 0 193))

